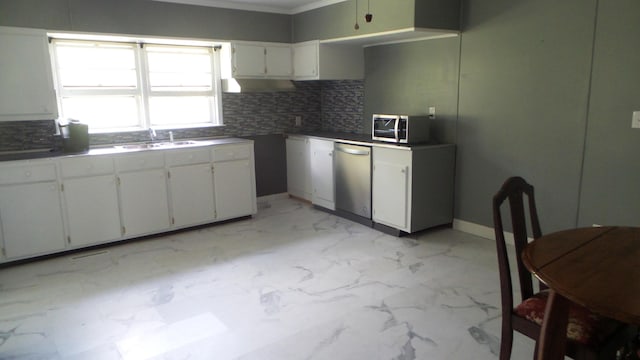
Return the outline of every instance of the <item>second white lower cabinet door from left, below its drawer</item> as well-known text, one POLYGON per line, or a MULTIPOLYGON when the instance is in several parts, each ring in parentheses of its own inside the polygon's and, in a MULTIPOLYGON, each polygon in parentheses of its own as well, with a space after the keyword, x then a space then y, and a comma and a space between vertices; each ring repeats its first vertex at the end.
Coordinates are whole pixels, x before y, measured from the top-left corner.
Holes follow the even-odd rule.
POLYGON ((114 175, 68 179, 64 199, 73 246, 120 238, 118 190, 114 175))

